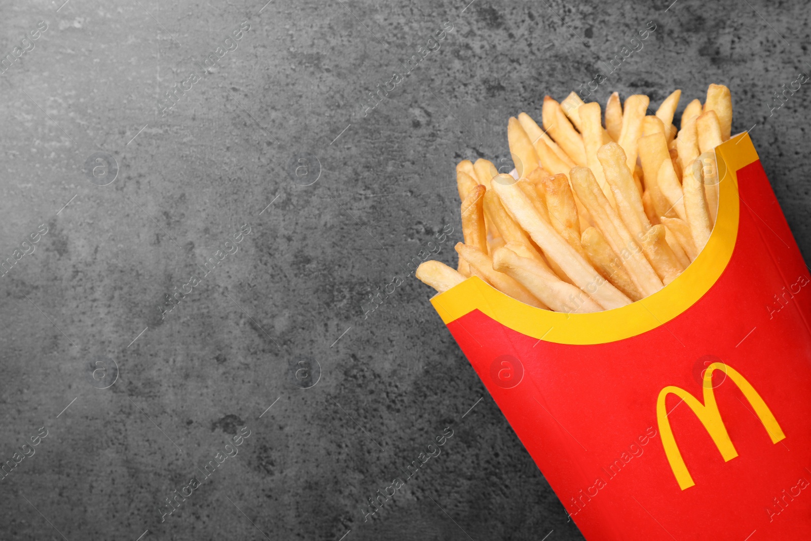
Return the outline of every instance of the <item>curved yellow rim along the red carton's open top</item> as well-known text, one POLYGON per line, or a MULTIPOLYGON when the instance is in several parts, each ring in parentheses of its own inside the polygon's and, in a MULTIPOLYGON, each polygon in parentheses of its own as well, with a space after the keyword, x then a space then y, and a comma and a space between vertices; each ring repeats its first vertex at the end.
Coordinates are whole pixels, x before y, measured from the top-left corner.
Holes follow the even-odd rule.
POLYGON ((557 344, 603 344, 650 331, 680 315, 702 298, 735 249, 740 217, 737 171, 757 161, 748 133, 715 148, 719 176, 719 208, 706 247, 684 272, 662 290, 636 303, 590 314, 566 314, 530 307, 494 289, 478 277, 437 294, 431 303, 445 324, 478 309, 521 334, 557 344))

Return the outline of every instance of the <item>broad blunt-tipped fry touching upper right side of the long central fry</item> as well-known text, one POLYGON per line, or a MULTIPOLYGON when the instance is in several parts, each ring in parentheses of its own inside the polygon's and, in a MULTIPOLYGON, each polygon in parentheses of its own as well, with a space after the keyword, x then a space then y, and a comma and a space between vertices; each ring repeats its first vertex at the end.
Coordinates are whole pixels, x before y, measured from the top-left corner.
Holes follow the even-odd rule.
POLYGON ((605 144, 597 151, 603 173, 616 200, 616 210, 625 226, 633 235, 643 234, 650 229, 650 221, 645 215, 642 196, 633 180, 633 175, 625 161, 625 152, 616 143, 605 144))

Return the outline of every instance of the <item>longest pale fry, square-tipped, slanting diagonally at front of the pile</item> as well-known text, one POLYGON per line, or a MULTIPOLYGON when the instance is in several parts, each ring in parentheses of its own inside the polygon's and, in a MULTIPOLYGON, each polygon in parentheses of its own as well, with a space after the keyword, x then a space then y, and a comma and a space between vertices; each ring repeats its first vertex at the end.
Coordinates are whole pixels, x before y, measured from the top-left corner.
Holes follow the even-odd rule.
POLYGON ((601 307, 611 309, 628 304, 628 297, 599 276, 577 250, 571 247, 551 225, 543 221, 521 188, 513 186, 508 175, 501 176, 506 178, 501 182, 498 182, 499 178, 494 179, 493 189, 504 206, 509 209, 510 214, 543 249, 550 264, 552 261, 558 264, 574 285, 589 294, 601 307))

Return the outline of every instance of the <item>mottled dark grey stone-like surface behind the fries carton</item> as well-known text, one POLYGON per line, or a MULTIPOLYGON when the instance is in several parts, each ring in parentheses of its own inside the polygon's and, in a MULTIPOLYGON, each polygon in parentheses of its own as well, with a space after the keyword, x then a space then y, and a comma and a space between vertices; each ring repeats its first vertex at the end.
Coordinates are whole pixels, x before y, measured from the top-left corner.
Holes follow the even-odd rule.
POLYGON ((733 132, 751 128, 808 256, 811 90, 769 111, 811 70, 808 10, 467 1, 0 3, 2 56, 48 24, 0 75, 2 259, 48 227, 0 278, 0 460, 49 431, 0 481, 0 539, 581 539, 430 290, 408 277, 367 319, 361 304, 447 224, 438 257, 455 261, 457 161, 508 159, 508 116, 593 79, 651 20, 594 99, 658 105, 682 88, 682 109, 727 84, 733 132), (161 117, 160 97, 246 20, 161 117), (364 116, 446 21, 440 49, 364 116), (93 152, 118 163, 108 186, 84 173, 93 152), (288 167, 304 156, 310 186, 288 167), (237 253, 161 320, 164 295, 243 223, 237 253), (99 355, 120 370, 109 389, 90 383, 99 355), (311 359, 320 380, 298 389, 311 359), (243 426, 238 456, 161 523, 165 497, 243 426), (445 427, 440 456, 363 522, 445 427))

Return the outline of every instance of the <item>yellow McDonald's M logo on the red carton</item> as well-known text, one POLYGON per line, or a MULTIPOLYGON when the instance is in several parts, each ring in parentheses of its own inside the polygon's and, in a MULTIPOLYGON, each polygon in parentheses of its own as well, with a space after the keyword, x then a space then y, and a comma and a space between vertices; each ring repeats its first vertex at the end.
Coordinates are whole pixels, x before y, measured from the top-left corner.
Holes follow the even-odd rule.
POLYGON ((710 364, 704 372, 702 381, 702 387, 704 389, 703 404, 684 389, 674 386, 662 389, 656 401, 656 419, 659 422, 659 434, 662 436, 664 453, 667 455, 667 462, 670 462, 670 467, 673 470, 673 474, 676 476, 676 481, 679 483, 681 490, 692 487, 696 483, 693 483, 693 478, 690 477, 687 466, 684 465, 684 458, 681 457, 679 447, 676 445, 676 439, 673 437, 670 421, 667 419, 665 401, 667 401, 668 394, 672 393, 680 397, 684 403, 693 410, 693 413, 696 414, 698 420, 702 422, 707 433, 721 453, 724 462, 728 462, 738 456, 738 452, 735 450, 732 440, 729 439, 727 427, 723 425, 723 420, 718 410, 718 404, 715 403, 715 395, 712 386, 712 373, 715 370, 723 371, 728 379, 732 380, 732 382, 738 386, 740 392, 744 393, 744 397, 746 397, 749 404, 755 410, 757 418, 760 419, 763 427, 766 428, 766 432, 769 434, 772 443, 776 444, 786 437, 780 425, 777 423, 777 419, 775 419, 769 407, 766 406, 766 402, 757 394, 757 391, 749 384, 749 381, 747 381, 744 376, 740 375, 740 372, 734 370, 732 367, 728 367, 724 363, 710 364))

